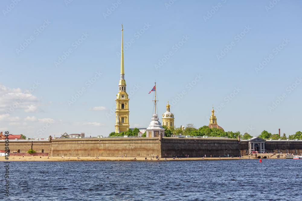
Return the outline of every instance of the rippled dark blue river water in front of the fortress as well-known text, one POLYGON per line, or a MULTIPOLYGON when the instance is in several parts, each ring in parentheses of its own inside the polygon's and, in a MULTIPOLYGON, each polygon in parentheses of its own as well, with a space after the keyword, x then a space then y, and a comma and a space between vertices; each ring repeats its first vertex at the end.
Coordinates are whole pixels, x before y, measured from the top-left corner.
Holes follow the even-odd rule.
POLYGON ((302 200, 302 160, 262 161, 10 162, 9 200, 302 200))

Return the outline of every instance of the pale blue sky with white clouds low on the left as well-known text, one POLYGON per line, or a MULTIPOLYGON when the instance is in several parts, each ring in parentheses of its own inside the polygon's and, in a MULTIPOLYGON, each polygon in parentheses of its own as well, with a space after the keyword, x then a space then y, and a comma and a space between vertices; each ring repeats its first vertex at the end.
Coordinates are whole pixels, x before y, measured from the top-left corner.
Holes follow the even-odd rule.
POLYGON ((294 134, 302 129, 301 6, 1 1, 0 130, 34 138, 114 131, 123 23, 130 127, 151 121, 156 80, 158 113, 169 100, 176 127, 208 125, 214 105, 225 131, 294 134))

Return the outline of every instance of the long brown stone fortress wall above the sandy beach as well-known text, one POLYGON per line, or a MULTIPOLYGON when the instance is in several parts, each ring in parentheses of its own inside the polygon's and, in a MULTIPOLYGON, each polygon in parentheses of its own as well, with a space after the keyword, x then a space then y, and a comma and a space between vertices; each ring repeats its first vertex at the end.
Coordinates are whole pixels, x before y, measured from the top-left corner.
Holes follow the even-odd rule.
MULTIPOLYGON (((172 157, 237 157, 249 154, 247 141, 237 139, 207 139, 207 138, 72 138, 47 140, 10 140, 10 152, 20 150, 27 152, 33 146, 37 152, 49 153, 49 156, 79 156, 79 157, 151 157, 159 155, 160 158, 172 157), (246 153, 247 152, 247 153, 246 153)), ((4 150, 5 141, 0 140, 0 149, 4 150)), ((267 140, 267 152, 276 153, 302 153, 302 141, 267 140)))

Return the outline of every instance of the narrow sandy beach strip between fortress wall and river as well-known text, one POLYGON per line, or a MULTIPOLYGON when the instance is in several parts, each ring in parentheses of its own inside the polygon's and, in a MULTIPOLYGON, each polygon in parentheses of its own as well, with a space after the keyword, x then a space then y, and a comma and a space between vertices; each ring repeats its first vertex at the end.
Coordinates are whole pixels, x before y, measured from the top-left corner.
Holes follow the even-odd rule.
MULTIPOLYGON (((173 159, 173 158, 166 158, 167 161, 172 161, 172 160, 234 160, 234 159, 249 159, 249 156, 244 156, 243 158, 224 158, 221 157, 219 159, 219 157, 213 157, 213 158, 177 158, 177 159, 173 159)), ((252 159, 252 158, 251 158, 252 159)), ((152 160, 150 160, 150 157, 147 158, 147 161, 153 161, 156 160, 156 157, 152 160)), ((159 160, 165 160, 164 158, 159 158, 159 160)), ((165 161, 166 161, 165 160, 165 161)), ((80 159, 77 159, 77 157, 63 157, 62 156, 52 156, 49 157, 48 156, 24 156, 24 158, 22 156, 11 156, 8 157, 8 160, 5 160, 4 156, 0 157, 0 161, 145 161, 145 158, 139 157, 134 159, 134 157, 99 157, 98 159, 96 159, 95 157, 80 157, 80 159)))

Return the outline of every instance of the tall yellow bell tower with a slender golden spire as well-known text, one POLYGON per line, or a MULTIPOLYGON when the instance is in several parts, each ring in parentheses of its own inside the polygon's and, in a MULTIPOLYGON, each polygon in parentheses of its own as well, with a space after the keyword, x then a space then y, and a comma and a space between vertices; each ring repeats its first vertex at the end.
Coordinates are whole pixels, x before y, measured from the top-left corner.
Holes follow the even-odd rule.
POLYGON ((123 50, 123 24, 122 24, 122 50, 120 60, 120 83, 116 95, 115 132, 123 132, 129 129, 129 98, 126 93, 126 81, 124 80, 124 50, 123 50))

